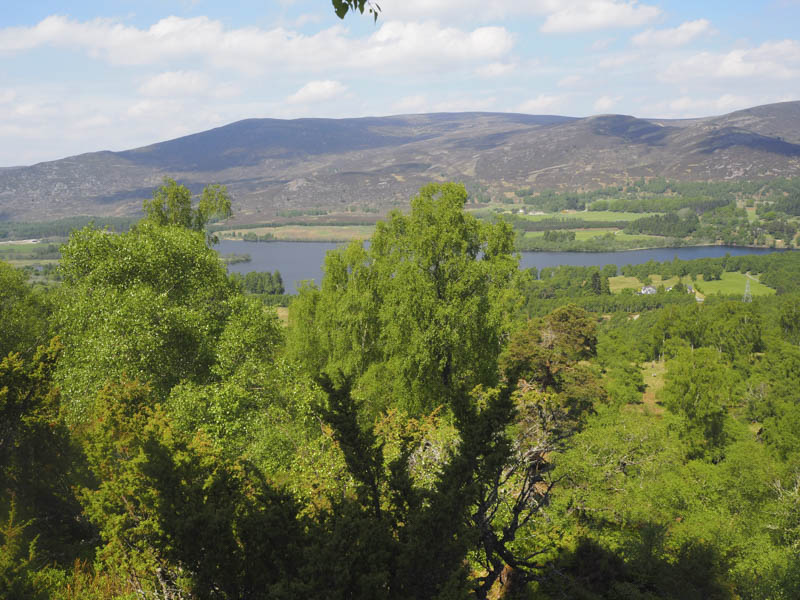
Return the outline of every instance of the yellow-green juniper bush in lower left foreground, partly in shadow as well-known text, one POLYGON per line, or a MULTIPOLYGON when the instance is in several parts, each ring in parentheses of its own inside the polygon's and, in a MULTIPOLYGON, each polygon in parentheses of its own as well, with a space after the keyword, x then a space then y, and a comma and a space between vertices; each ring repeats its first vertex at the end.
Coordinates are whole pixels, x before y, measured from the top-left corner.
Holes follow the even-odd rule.
POLYGON ((97 395, 86 454, 100 483, 82 497, 103 536, 99 560, 146 595, 291 597, 295 503, 202 432, 175 430, 154 400, 124 381, 97 395))

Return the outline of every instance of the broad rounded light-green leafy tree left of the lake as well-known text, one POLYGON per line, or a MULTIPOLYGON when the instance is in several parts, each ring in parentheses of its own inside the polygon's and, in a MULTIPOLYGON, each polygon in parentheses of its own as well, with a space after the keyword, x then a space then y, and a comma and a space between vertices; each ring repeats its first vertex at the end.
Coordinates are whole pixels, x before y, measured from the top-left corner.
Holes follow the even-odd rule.
POLYGON ((86 416, 107 378, 126 374, 165 396, 210 375, 236 288, 200 234, 150 223, 120 235, 86 228, 63 247, 61 272, 56 378, 72 418, 86 416))

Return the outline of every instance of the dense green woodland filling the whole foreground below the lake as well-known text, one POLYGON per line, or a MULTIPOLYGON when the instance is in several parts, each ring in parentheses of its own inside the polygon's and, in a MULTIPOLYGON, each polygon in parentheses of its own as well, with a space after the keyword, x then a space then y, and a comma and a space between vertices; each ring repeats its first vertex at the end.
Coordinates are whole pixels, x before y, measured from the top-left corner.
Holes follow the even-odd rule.
POLYGON ((467 201, 423 187, 288 323, 224 188, 0 262, 0 596, 797 598, 798 255, 533 272, 467 201), (686 293, 734 275, 775 293, 686 293))

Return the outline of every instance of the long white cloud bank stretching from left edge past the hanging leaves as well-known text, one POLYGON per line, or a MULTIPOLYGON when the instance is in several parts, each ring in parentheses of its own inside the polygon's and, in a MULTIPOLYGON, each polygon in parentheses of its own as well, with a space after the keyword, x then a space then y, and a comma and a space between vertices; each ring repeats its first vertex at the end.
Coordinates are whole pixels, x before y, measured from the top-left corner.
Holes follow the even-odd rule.
POLYGON ((200 59, 258 74, 268 69, 433 68, 442 64, 497 61, 513 46, 503 27, 464 31, 437 23, 384 21, 372 35, 349 37, 341 25, 303 35, 281 27, 226 29, 208 17, 166 17, 149 28, 109 19, 76 21, 51 16, 32 27, 0 29, 0 54, 41 46, 77 48, 119 65, 164 64, 200 59))

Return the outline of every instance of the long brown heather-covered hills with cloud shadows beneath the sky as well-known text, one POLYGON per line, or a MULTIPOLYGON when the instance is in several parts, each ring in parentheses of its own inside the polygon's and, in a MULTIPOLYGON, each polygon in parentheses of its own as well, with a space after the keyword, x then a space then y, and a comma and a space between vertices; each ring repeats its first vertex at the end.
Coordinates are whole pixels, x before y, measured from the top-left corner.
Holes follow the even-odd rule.
POLYGON ((800 102, 699 119, 435 113, 247 119, 174 140, 0 169, 0 220, 126 215, 169 175, 223 183, 237 220, 287 209, 406 205, 430 181, 499 199, 521 188, 585 190, 632 178, 800 175, 800 102))

